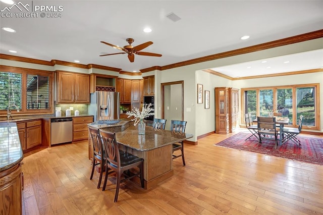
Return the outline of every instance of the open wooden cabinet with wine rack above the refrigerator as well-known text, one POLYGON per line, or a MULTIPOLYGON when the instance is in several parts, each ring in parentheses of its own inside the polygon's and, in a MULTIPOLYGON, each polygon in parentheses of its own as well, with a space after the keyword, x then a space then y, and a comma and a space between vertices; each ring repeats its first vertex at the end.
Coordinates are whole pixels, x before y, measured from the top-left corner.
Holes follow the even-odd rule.
POLYGON ((90 93, 95 91, 115 92, 116 78, 109 75, 90 74, 90 93))

